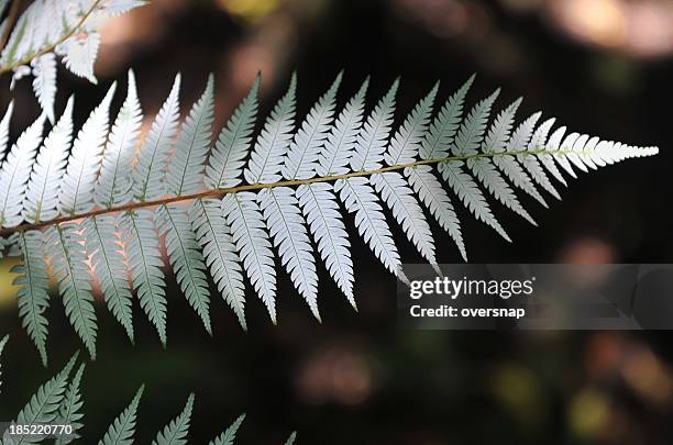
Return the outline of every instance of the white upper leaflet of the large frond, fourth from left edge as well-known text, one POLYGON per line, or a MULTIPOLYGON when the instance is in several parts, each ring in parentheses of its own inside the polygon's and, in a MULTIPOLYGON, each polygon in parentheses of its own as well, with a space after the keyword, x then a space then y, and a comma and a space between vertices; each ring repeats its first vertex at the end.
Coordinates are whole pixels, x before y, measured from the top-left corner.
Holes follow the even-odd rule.
POLYGON ((73 144, 73 152, 58 192, 60 213, 85 213, 93 208, 93 186, 108 135, 109 108, 115 88, 117 84, 112 84, 73 144))

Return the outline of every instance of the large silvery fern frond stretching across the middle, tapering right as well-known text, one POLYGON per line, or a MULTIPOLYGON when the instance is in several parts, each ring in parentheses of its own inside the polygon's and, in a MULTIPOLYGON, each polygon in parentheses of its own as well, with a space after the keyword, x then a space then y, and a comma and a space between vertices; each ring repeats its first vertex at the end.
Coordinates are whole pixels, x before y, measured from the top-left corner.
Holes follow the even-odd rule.
MULTIPOLYGON (((565 127, 552 132, 554 120, 539 124, 540 113, 515 125, 520 100, 490 119, 499 91, 464 112, 474 78, 437 107, 434 85, 394 127, 399 80, 366 113, 368 79, 338 107, 341 79, 339 74, 299 119, 293 75, 255 136, 257 76, 212 147, 212 76, 181 121, 177 75, 144 137, 132 73, 111 127, 115 85, 76 134, 71 98, 44 141, 44 118, 30 125, 0 166, 0 225, 10 254, 21 256, 14 269, 19 312, 43 361, 49 275, 91 357, 98 326, 91 272, 131 341, 135 293, 166 344, 162 238, 177 282, 209 333, 209 276, 243 329, 246 280, 276 323, 276 255, 320 320, 318 263, 355 307, 344 211, 354 213, 357 232, 380 263, 406 281, 384 208, 437 267, 423 207, 466 259, 457 202, 509 240, 492 199, 536 224, 517 191, 547 207, 543 193, 560 198, 563 173, 574 178, 658 152, 566 134, 565 127)), ((2 153, 11 113, 10 105, 0 121, 2 153)))

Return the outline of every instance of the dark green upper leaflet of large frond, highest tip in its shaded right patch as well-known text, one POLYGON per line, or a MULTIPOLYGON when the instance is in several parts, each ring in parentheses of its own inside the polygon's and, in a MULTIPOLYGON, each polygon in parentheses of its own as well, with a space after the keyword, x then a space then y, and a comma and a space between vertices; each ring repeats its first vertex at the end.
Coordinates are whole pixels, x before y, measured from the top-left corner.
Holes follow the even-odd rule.
POLYGON ((473 82, 474 76, 470 77, 461 89, 446 100, 437 118, 434 118, 420 147, 421 159, 446 157, 461 123, 465 96, 467 96, 473 82))

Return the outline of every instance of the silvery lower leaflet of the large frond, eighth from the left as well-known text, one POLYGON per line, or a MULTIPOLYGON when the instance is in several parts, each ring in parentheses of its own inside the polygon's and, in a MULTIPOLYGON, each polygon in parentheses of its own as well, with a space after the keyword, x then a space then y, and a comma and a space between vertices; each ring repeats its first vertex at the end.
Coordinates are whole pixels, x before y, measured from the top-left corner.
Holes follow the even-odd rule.
POLYGON ((278 187, 257 193, 266 225, 280 253, 293 283, 320 321, 318 311, 318 275, 306 222, 299 210, 295 190, 278 187))

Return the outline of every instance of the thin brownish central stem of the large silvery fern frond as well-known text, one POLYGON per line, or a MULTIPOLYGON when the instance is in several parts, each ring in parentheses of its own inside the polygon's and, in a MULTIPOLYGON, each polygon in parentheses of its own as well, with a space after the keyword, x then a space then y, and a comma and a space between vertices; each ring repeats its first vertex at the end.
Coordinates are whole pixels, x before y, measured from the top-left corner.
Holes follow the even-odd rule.
POLYGON ((273 189, 277 187, 297 187, 297 186, 316 183, 316 182, 332 182, 332 181, 336 181, 340 179, 368 177, 372 175, 383 174, 387 171, 397 171, 397 170, 404 170, 405 168, 415 168, 421 165, 452 163, 452 162, 475 159, 475 158, 482 158, 482 157, 493 158, 497 156, 538 156, 538 155, 543 155, 543 154, 569 155, 571 153, 573 152, 570 149, 567 151, 559 149, 554 152, 550 152, 549 149, 526 149, 521 152, 475 153, 475 154, 470 154, 470 155, 449 156, 449 157, 435 158, 435 159, 421 159, 421 160, 416 160, 413 163, 398 164, 398 165, 394 165, 389 167, 377 168, 375 170, 353 171, 353 173, 344 174, 344 175, 321 176, 321 177, 315 177, 315 178, 309 178, 309 179, 282 180, 282 181, 269 182, 269 183, 251 183, 251 185, 244 185, 244 186, 230 187, 225 189, 205 190, 205 191, 200 191, 198 193, 192 193, 192 194, 163 198, 163 199, 157 199, 154 201, 132 202, 129 204, 120 205, 117 208, 110 208, 110 209, 98 209, 98 210, 93 210, 93 211, 86 212, 86 213, 70 214, 70 215, 56 218, 51 221, 41 221, 37 223, 24 223, 15 227, 8 227, 8 229, 0 230, 0 236, 8 236, 16 232, 26 232, 31 230, 44 229, 51 225, 68 223, 68 222, 78 221, 78 220, 90 218, 90 216, 126 212, 131 210, 166 205, 166 204, 172 204, 176 202, 194 201, 196 199, 202 199, 202 198, 217 198, 217 197, 223 197, 224 194, 238 193, 242 191, 255 191, 255 190, 263 190, 263 189, 273 189))

